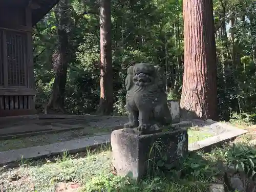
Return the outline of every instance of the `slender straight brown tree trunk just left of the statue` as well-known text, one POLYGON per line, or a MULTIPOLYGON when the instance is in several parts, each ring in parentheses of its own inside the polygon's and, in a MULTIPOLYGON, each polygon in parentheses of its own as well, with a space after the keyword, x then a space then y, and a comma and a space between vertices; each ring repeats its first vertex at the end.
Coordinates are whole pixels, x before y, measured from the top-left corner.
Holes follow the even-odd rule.
POLYGON ((110 0, 100 0, 100 102, 98 114, 110 115, 113 110, 113 74, 111 55, 110 0))

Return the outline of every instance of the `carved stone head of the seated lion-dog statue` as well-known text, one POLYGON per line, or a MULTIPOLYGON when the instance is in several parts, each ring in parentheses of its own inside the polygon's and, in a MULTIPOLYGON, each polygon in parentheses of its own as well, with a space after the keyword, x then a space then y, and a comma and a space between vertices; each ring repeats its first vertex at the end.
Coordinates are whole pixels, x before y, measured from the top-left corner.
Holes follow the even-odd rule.
POLYGON ((136 63, 133 67, 133 82, 136 86, 146 87, 154 83, 155 66, 149 63, 136 63))

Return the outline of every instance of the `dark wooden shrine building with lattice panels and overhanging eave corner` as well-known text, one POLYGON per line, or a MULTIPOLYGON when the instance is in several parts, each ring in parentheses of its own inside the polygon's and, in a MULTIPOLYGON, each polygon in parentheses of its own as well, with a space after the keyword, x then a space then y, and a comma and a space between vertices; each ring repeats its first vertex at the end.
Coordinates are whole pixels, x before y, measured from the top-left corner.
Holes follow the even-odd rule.
POLYGON ((59 0, 0 0, 0 117, 36 114, 33 26, 59 0))

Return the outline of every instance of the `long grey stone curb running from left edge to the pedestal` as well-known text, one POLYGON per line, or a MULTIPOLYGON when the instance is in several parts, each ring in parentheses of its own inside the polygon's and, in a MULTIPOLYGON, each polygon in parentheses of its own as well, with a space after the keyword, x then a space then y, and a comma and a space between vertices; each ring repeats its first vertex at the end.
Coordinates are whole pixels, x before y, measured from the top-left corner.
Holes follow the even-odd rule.
POLYGON ((71 154, 78 153, 81 151, 86 151, 88 147, 94 148, 105 143, 107 144, 109 142, 110 135, 102 135, 83 139, 74 139, 44 146, 34 146, 28 148, 21 148, 19 150, 0 152, 0 164, 20 161, 22 159, 45 158, 67 151, 71 154))

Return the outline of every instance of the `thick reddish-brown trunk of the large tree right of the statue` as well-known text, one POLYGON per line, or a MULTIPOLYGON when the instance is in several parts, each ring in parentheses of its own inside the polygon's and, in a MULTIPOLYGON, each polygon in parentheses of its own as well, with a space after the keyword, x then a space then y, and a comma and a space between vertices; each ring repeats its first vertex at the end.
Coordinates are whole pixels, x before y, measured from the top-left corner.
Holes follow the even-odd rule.
POLYGON ((211 0, 184 0, 183 118, 218 120, 215 27, 211 0))

